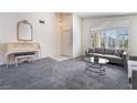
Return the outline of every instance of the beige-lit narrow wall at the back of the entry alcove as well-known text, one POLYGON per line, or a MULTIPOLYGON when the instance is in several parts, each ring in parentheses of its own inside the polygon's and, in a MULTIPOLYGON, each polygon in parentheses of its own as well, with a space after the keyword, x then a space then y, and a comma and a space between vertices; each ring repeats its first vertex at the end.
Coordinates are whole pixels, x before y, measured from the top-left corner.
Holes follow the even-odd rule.
POLYGON ((62 14, 62 54, 66 56, 73 55, 73 28, 72 14, 62 14))

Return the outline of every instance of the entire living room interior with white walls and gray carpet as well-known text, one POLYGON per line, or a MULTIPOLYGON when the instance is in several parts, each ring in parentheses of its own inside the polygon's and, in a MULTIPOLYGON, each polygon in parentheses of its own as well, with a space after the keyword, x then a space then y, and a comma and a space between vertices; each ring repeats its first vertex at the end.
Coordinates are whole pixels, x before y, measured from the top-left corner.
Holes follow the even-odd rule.
POLYGON ((137 87, 136 13, 1 12, 0 20, 1 90, 137 87))

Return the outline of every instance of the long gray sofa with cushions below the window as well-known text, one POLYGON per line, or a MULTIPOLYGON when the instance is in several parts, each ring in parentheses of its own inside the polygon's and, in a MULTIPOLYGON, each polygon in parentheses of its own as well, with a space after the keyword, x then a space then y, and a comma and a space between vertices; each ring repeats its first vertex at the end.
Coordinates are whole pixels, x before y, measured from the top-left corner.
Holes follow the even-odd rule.
POLYGON ((120 64, 127 69, 127 54, 120 49, 104 49, 95 48, 88 49, 85 52, 86 56, 97 56, 108 59, 110 63, 120 64))

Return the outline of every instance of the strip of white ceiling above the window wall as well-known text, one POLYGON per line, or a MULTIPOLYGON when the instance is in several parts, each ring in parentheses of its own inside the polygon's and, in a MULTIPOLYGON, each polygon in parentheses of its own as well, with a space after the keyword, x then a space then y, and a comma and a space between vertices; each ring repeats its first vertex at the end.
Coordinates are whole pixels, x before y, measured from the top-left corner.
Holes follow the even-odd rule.
POLYGON ((112 16, 127 16, 137 14, 137 12, 75 12, 81 18, 96 18, 96 17, 112 17, 112 16))

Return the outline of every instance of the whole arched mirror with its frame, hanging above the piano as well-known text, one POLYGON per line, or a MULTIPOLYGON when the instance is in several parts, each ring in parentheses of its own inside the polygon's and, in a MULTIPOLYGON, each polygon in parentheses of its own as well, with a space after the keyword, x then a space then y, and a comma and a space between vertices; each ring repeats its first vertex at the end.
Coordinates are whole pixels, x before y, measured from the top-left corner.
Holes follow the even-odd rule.
POLYGON ((18 22, 18 41, 32 41, 32 24, 27 20, 18 22))

